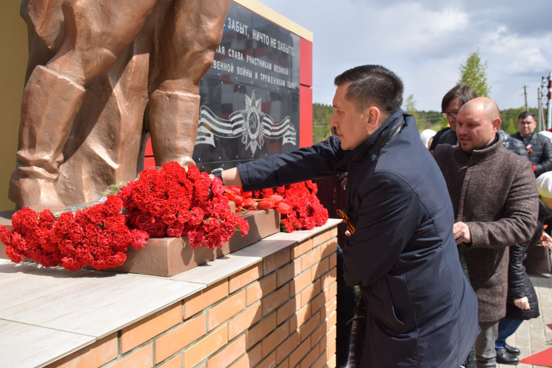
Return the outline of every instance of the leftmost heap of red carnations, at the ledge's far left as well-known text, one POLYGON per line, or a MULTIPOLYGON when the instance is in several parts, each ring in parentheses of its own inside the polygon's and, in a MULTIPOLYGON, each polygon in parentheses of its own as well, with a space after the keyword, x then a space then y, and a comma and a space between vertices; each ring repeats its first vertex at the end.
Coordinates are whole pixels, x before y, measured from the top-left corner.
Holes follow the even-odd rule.
POLYGON ((70 271, 84 265, 102 270, 123 264, 126 250, 144 247, 147 233, 130 230, 121 215, 123 202, 112 195, 87 209, 63 212, 56 219, 49 210, 25 207, 12 216, 13 232, 0 227, 0 240, 15 263, 24 257, 46 267, 62 264, 70 271))

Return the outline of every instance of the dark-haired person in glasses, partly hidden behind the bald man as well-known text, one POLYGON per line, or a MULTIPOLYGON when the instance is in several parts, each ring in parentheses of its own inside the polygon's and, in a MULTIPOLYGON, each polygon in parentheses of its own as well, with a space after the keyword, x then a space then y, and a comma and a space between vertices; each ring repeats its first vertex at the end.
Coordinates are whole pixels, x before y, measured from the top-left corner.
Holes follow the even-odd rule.
POLYGON ((474 89, 465 84, 459 84, 453 89, 449 90, 447 94, 443 96, 441 102, 441 114, 447 119, 449 126, 443 130, 440 130, 434 137, 429 151, 433 151, 437 145, 458 145, 458 138, 456 137, 456 116, 458 110, 471 99, 477 97, 474 89))

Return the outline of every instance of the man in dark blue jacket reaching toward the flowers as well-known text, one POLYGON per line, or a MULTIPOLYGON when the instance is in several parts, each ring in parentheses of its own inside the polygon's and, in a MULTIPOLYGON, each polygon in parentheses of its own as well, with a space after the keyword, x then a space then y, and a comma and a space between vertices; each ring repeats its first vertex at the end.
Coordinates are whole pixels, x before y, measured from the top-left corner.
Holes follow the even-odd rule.
POLYGON ((353 234, 344 277, 367 305, 361 366, 458 368, 473 345, 477 300, 461 269, 439 167, 400 109, 403 84, 378 65, 335 79, 337 137, 222 172, 244 190, 348 172, 353 234))

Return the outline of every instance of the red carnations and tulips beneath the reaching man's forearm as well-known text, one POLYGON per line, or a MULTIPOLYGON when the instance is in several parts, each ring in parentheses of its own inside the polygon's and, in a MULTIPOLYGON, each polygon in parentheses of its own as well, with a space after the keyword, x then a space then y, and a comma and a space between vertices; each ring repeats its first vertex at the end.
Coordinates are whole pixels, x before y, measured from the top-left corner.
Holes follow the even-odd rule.
POLYGON ((239 186, 226 186, 225 194, 236 203, 236 210, 268 210, 274 208, 282 214, 280 230, 311 230, 328 220, 326 210, 316 196, 318 188, 307 182, 278 188, 243 192, 239 186))

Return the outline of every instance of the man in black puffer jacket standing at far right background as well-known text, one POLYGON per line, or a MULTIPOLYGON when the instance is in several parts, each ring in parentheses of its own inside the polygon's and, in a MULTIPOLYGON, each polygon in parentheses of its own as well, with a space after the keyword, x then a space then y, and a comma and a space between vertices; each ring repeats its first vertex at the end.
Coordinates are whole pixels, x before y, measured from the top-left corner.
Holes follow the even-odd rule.
POLYGON ((518 117, 519 132, 512 134, 524 143, 527 148, 529 161, 533 163, 535 177, 552 170, 552 143, 550 140, 535 132, 537 121, 535 115, 529 111, 523 111, 518 117))

